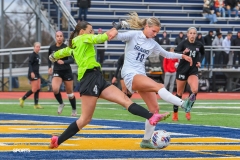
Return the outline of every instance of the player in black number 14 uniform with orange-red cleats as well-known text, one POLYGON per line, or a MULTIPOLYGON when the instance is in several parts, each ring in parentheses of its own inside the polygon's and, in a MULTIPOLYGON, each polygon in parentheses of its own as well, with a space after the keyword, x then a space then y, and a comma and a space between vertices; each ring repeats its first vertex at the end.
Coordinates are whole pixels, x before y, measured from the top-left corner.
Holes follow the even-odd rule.
MULTIPOLYGON (((195 41, 197 36, 197 29, 190 27, 187 31, 187 39, 178 44, 175 49, 176 52, 186 54, 192 57, 193 65, 190 66, 189 62, 181 59, 177 68, 176 84, 177 84, 177 97, 182 98, 185 86, 188 83, 191 92, 197 96, 198 92, 198 68, 201 67, 201 62, 205 54, 204 45, 195 41), (195 65, 194 65, 195 64, 195 65)), ((178 121, 178 106, 173 106, 173 121, 178 121)), ((191 119, 190 112, 186 113, 186 118, 191 119)))

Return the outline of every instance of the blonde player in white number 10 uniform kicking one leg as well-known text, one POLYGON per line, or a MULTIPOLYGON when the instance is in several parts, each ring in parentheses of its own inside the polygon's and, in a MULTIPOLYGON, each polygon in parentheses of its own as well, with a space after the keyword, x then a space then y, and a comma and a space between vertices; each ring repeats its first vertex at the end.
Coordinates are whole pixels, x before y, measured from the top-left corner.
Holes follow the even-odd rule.
MULTIPOLYGON (((185 59, 192 65, 192 58, 185 54, 177 54, 164 50, 153 38, 160 31, 160 21, 151 17, 140 19, 136 12, 129 14, 126 20, 130 28, 142 29, 141 31, 128 31, 118 33, 116 39, 126 42, 124 65, 121 76, 124 79, 127 89, 130 92, 138 91, 152 113, 159 112, 156 93, 166 102, 181 106, 185 112, 191 110, 191 105, 195 101, 194 94, 186 101, 174 96, 164 88, 164 84, 157 83, 147 77, 145 71, 145 61, 150 54, 161 55, 170 59, 185 59)), ((141 148, 155 148, 150 143, 150 138, 155 126, 150 125, 148 120, 145 123, 145 134, 140 144, 141 148)))

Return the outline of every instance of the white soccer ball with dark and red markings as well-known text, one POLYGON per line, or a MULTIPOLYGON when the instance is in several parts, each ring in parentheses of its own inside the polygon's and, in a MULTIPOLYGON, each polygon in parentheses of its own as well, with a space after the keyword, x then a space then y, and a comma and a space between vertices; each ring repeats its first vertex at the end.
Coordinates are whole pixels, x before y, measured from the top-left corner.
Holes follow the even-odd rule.
POLYGON ((166 148, 170 144, 170 133, 164 130, 154 131, 151 143, 158 149, 166 148))

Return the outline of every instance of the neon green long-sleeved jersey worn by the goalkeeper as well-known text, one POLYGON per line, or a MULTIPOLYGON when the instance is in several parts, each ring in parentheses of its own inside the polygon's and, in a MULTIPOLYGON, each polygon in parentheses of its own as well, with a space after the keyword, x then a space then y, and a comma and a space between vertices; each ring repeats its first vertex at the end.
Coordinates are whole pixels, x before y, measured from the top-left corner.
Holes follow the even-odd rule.
POLYGON ((54 58, 60 59, 73 54, 75 62, 78 65, 78 80, 81 80, 87 69, 101 67, 96 61, 94 44, 103 43, 108 40, 104 34, 83 34, 72 40, 72 48, 66 47, 54 53, 54 58))

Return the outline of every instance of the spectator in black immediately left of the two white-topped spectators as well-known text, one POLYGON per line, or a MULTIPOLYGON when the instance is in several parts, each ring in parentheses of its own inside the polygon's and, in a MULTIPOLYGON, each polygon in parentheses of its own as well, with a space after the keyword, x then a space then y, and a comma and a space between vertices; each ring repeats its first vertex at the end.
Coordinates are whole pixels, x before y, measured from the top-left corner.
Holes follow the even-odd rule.
MULTIPOLYGON (((203 39, 204 39, 205 46, 212 46, 212 42, 214 40, 213 31, 209 31, 208 35, 206 35, 203 39)), ((205 51, 205 65, 207 64, 210 65, 212 56, 211 56, 211 51, 205 51)))

